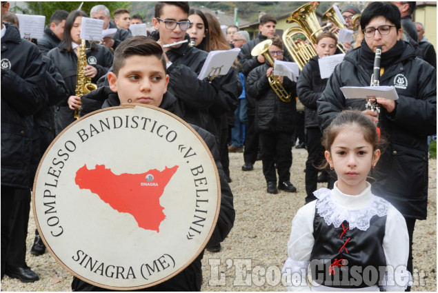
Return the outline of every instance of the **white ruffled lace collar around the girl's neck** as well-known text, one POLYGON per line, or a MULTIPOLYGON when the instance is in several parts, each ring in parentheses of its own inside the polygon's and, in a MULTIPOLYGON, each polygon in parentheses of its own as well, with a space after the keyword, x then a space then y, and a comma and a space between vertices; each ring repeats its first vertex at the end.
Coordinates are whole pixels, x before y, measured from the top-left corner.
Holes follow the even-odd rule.
POLYGON ((321 188, 314 192, 317 197, 316 210, 327 225, 339 228, 344 221, 348 221, 350 230, 355 228, 366 231, 370 228, 372 216, 386 216, 391 204, 370 191, 368 183, 366 190, 352 196, 343 194, 336 188, 329 190, 321 188))

